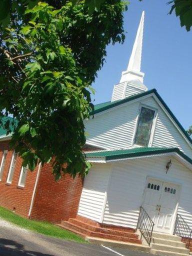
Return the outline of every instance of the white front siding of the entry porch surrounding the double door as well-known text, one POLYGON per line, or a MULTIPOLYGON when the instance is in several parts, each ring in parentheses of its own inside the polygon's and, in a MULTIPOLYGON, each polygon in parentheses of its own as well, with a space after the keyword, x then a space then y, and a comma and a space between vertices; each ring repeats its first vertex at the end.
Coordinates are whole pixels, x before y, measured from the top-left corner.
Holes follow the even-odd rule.
POLYGON ((147 176, 181 185, 178 213, 192 228, 192 172, 171 157, 165 174, 167 156, 139 158, 112 163, 103 222, 136 228, 139 206, 147 176))

